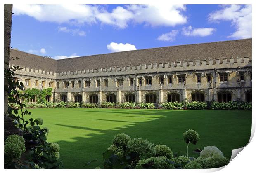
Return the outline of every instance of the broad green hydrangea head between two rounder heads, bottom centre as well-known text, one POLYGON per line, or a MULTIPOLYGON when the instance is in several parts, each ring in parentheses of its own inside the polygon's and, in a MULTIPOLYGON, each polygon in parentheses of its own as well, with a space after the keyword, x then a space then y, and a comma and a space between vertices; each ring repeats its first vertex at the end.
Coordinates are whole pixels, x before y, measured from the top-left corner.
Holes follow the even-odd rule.
POLYGON ((130 140, 127 144, 127 148, 130 152, 139 153, 140 159, 146 159, 151 156, 155 156, 156 150, 154 148, 154 144, 149 143, 148 140, 144 140, 142 138, 134 138, 130 140))

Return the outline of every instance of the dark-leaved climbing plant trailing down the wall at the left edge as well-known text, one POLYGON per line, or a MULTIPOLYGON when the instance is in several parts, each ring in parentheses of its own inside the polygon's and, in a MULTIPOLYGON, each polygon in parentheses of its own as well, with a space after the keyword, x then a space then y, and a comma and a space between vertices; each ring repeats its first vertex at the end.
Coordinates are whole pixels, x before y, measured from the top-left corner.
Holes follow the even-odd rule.
MULTIPOLYGON (((7 47, 5 50, 8 52, 10 61, 10 48, 7 47)), ((18 57, 12 57, 12 59, 19 59, 18 57)), ((48 131, 46 128, 41 129, 40 124, 42 124, 38 119, 26 118, 25 116, 31 116, 31 112, 23 110, 24 103, 21 103, 20 98, 34 98, 35 95, 31 95, 32 91, 23 91, 24 85, 21 78, 15 76, 16 70, 21 70, 19 66, 10 66, 9 62, 6 63, 9 68, 5 68, 5 79, 8 85, 5 85, 5 91, 7 92, 8 102, 20 105, 20 111, 17 108, 12 108, 8 106, 5 116, 9 116, 13 119, 14 124, 19 128, 20 136, 25 140, 27 152, 26 159, 24 161, 18 161, 16 157, 8 157, 8 154, 13 154, 13 152, 5 152, 5 158, 16 158, 5 160, 5 168, 62 168, 62 161, 59 156, 53 156, 51 152, 51 144, 47 143, 48 131), (15 98, 17 96, 17 98, 15 98), (28 129, 27 126, 30 128, 28 129), (37 154, 39 153, 39 154, 37 154)), ((36 90, 33 90, 33 92, 36 90)), ((46 89, 43 94, 49 94, 51 89, 46 89)), ((10 145, 5 145, 5 151, 10 145)), ((56 154, 55 154, 56 155, 56 154)), ((58 155, 58 154, 57 154, 58 155)))

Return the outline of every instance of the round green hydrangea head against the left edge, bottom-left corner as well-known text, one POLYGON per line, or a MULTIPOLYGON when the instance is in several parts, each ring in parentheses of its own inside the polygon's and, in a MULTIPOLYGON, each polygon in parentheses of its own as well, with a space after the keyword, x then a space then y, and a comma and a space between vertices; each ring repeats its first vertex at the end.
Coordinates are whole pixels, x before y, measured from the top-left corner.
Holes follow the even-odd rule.
POLYGON ((22 150, 17 143, 5 143, 5 164, 11 164, 12 160, 19 159, 21 157, 21 154, 22 150))

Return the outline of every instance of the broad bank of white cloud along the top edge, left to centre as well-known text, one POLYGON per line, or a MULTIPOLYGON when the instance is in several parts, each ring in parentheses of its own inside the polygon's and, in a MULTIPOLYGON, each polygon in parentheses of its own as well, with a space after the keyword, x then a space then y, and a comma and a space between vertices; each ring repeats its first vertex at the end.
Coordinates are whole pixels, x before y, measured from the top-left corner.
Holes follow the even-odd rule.
POLYGON ((100 5, 13 5, 16 15, 28 15, 39 21, 75 25, 102 23, 126 28, 129 23, 148 26, 175 26, 187 22, 185 5, 126 5, 108 12, 100 5))

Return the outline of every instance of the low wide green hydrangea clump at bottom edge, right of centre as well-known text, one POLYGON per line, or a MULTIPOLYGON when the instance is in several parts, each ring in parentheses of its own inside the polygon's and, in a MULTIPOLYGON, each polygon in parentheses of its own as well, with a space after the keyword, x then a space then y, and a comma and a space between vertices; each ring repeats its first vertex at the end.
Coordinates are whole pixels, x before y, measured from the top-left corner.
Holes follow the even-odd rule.
POLYGON ((145 169, 145 168, 153 168, 153 169, 172 169, 174 166, 166 161, 166 157, 158 156, 158 157, 149 157, 148 159, 141 159, 136 164, 136 169, 145 169))

